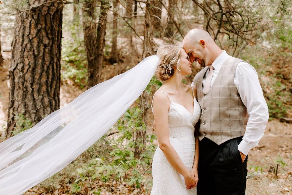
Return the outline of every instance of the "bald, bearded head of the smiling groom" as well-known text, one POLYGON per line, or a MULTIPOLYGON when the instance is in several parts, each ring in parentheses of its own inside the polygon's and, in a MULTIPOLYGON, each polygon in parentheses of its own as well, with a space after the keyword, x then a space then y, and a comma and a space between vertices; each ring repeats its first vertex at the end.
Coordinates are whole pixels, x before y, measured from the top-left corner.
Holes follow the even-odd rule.
POLYGON ((189 55, 191 62, 196 61, 202 67, 205 67, 212 63, 211 51, 217 45, 207 31, 195 28, 190 30, 183 38, 182 46, 189 55))

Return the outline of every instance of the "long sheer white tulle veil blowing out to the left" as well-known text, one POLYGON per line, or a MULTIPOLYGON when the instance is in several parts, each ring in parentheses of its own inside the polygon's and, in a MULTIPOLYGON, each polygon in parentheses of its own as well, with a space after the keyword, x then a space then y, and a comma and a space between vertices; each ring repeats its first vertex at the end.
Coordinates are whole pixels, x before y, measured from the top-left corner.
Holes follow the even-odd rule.
POLYGON ((145 90, 158 61, 157 55, 145 58, 0 143, 0 194, 24 193, 94 144, 145 90))

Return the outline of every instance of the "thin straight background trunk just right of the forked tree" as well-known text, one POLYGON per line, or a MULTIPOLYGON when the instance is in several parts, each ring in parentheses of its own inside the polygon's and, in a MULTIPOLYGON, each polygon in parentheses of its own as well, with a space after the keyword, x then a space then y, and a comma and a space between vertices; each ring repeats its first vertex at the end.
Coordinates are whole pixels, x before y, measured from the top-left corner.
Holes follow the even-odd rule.
POLYGON ((118 36, 118 21, 117 21, 117 17, 118 14, 117 12, 117 7, 118 7, 118 2, 117 0, 113 0, 113 43, 112 43, 112 50, 111 50, 111 54, 110 54, 110 62, 111 63, 116 63, 117 59, 118 59, 118 52, 117 52, 117 48, 116 48, 116 38, 118 36))

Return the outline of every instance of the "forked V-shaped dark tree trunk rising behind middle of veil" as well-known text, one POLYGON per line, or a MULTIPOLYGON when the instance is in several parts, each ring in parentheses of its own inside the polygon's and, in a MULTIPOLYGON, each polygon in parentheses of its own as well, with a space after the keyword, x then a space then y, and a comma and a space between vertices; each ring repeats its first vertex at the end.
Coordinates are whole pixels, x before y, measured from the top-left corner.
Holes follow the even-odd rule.
POLYGON ((100 82, 101 67, 103 64, 103 48, 105 45, 106 16, 109 9, 107 1, 101 1, 99 21, 95 20, 96 1, 87 0, 83 7, 84 44, 87 55, 88 81, 87 89, 100 82), (97 27, 96 27, 97 26, 97 27))

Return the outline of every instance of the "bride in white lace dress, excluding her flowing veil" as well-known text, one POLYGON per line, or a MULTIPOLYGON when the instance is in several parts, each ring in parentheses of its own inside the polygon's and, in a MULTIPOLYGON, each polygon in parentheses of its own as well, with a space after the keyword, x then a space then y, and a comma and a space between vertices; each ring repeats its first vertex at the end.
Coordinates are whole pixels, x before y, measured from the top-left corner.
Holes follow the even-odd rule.
POLYGON ((151 104, 159 143, 152 163, 151 195, 196 194, 199 140, 194 126, 201 108, 196 89, 182 83, 182 76, 192 73, 192 63, 179 46, 161 46, 157 55, 156 76, 165 83, 151 104))

